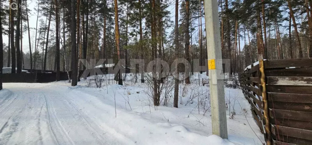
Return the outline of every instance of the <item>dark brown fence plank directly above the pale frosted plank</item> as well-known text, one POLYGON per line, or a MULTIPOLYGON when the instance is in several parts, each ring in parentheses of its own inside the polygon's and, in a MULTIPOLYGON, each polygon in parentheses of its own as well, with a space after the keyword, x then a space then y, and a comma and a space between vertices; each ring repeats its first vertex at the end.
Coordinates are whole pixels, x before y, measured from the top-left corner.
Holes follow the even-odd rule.
POLYGON ((266 76, 312 76, 312 67, 265 70, 266 76))

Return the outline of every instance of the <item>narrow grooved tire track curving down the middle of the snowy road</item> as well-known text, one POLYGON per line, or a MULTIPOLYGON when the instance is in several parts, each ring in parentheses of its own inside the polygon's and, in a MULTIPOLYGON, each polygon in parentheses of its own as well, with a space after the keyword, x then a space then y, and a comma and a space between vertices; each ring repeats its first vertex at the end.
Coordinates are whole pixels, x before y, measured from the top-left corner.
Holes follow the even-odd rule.
MULTIPOLYGON (((50 129, 52 130, 52 133, 57 143, 61 145, 75 144, 72 141, 72 139, 69 137, 68 133, 66 132, 65 128, 62 126, 59 118, 57 117, 55 109, 53 107, 53 103, 50 103, 50 101, 48 101, 45 94, 43 95, 46 100, 46 110, 48 111, 47 113, 48 113, 49 126, 50 126, 50 129)), ((51 100, 51 97, 49 97, 49 99, 51 100)))

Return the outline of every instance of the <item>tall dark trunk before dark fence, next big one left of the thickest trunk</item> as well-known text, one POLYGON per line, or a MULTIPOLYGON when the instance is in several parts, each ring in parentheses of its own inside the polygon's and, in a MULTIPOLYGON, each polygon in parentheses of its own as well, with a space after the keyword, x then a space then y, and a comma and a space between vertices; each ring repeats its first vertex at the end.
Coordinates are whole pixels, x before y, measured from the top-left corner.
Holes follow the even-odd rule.
MULTIPOLYGON (((73 0, 72 0, 73 1, 73 0)), ((60 80, 60 36, 59 36, 59 26, 60 26, 60 19, 59 19, 59 5, 58 5, 58 0, 54 1, 55 3, 55 29, 56 29, 56 81, 60 80)), ((74 26, 71 26, 74 27, 74 26)), ((76 36, 75 36, 76 37, 76 36)), ((76 41, 75 41, 76 43, 76 41)), ((76 52, 75 52, 76 53, 76 52)))

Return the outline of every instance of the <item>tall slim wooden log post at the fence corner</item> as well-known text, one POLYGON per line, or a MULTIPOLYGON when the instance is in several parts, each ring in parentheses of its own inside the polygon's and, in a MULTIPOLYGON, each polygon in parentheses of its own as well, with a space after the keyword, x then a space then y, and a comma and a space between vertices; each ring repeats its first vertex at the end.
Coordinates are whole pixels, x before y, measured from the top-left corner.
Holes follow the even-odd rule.
POLYGON ((260 80, 262 87, 262 100, 263 100, 263 117, 265 118, 265 130, 266 130, 266 144, 271 145, 271 129, 270 129, 270 121, 269 121, 269 108, 268 108, 268 98, 266 96, 266 75, 264 73, 264 62, 262 55, 262 45, 260 34, 257 34, 257 45, 258 45, 258 59, 259 59, 259 68, 260 68, 260 80))

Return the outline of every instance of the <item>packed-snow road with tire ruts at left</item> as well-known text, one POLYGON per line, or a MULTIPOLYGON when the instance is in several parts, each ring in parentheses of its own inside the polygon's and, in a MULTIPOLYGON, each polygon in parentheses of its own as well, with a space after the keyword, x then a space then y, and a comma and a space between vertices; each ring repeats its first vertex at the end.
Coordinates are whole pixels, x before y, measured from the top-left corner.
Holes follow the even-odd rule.
POLYGON ((90 116, 82 111, 83 108, 76 106, 73 101, 81 100, 75 97, 75 91, 56 89, 57 86, 50 85, 33 87, 12 87, 1 92, 0 144, 128 142, 126 138, 110 134, 107 129, 92 121, 90 116), (110 139, 106 139, 108 137, 110 139))

